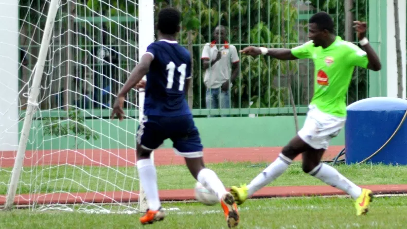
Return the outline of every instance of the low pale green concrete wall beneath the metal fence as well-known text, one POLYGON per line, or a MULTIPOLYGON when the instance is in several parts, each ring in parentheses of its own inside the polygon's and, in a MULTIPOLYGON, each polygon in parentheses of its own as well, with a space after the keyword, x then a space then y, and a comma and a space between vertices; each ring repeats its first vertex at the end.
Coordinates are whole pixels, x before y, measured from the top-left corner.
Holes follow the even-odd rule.
MULTIPOLYGON (((299 125, 304 124, 305 116, 299 116, 299 125)), ((292 116, 275 117, 236 117, 236 118, 196 118, 202 143, 205 148, 218 147, 274 147, 284 146, 296 134, 292 116)), ((34 125, 39 126, 36 122, 34 125)), ((137 124, 133 120, 89 120, 86 125, 100 134, 98 140, 83 142, 80 138, 44 136, 40 129, 32 130, 28 150, 73 148, 78 139, 83 149, 122 149, 135 148, 137 124), (119 128, 117 128, 117 125, 119 128)), ((332 140, 331 145, 344 145, 344 132, 332 140)), ((172 147, 167 140, 165 148, 172 147)))

